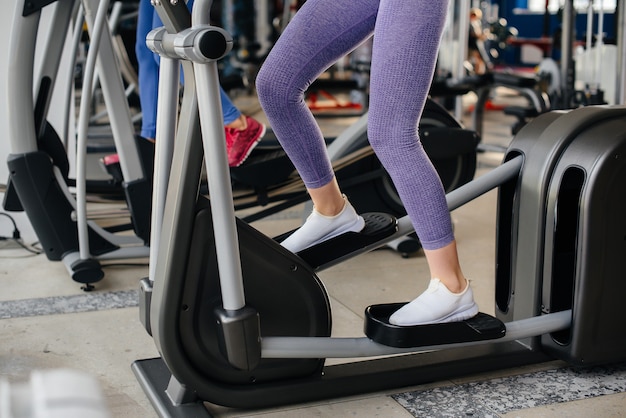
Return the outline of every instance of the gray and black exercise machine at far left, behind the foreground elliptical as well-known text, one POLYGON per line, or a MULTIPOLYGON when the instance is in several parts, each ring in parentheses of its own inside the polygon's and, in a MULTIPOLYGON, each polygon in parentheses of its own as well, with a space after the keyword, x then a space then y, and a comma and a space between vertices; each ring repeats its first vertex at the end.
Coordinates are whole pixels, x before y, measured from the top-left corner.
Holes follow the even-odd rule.
MULTIPOLYGON (((11 154, 8 158, 10 178, 3 205, 6 210, 24 211, 48 259, 62 261, 72 279, 85 284, 85 290, 91 290, 92 283, 104 276, 101 261, 144 258, 149 254, 150 207, 146 203, 150 202, 151 178, 143 167, 141 146, 135 141, 119 60, 106 24, 109 2, 40 0, 18 3, 9 40, 9 53, 14 57, 7 71, 11 154), (40 21, 46 7, 50 11, 50 21, 44 32, 40 21), (68 150, 63 145, 68 138, 60 138, 48 120, 53 92, 55 87, 57 91, 60 89, 60 81, 63 81, 59 68, 66 39, 59 34, 65 35, 73 28, 74 46, 77 47, 83 19, 90 30, 91 48, 85 64, 86 82, 77 129, 76 180, 72 181, 68 150), (36 50, 43 51, 40 62, 35 60, 36 50), (86 213, 87 189, 110 192, 112 186, 108 181, 88 183, 85 174, 92 104, 89 86, 96 70, 107 105, 110 134, 124 174, 123 192, 132 225, 123 225, 123 229, 117 226, 104 228, 88 220, 86 213), (126 234, 128 229, 134 234, 126 234)), ((73 75, 74 68, 71 70, 70 75, 73 75)), ((67 119, 69 109, 68 104, 67 119)))

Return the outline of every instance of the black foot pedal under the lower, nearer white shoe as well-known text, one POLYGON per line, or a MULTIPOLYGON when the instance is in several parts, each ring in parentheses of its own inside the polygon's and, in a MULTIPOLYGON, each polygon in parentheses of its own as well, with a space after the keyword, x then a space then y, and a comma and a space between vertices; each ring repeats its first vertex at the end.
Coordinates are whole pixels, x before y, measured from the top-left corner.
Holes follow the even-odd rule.
POLYGON ((365 309, 365 335, 379 344, 410 348, 494 340, 506 334, 502 321, 482 312, 460 322, 406 327, 390 324, 391 314, 404 305, 387 303, 368 306, 365 309))

